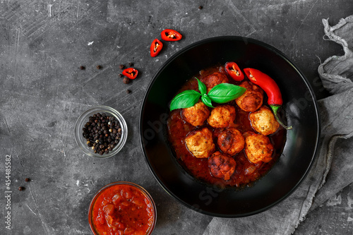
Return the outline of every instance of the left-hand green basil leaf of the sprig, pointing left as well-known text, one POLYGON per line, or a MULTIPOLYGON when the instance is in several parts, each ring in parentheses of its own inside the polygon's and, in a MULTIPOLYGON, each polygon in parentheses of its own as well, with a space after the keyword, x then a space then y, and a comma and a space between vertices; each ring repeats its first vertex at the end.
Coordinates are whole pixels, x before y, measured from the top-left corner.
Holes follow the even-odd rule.
POLYGON ((184 90, 179 93, 170 103, 170 111, 174 109, 189 108, 198 102, 201 94, 196 90, 184 90))

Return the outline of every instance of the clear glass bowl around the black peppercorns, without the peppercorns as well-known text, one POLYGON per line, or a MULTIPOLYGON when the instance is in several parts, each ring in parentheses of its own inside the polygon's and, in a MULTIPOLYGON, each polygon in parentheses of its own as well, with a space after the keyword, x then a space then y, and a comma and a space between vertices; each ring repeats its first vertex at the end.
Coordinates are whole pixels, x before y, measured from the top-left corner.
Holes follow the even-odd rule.
POLYGON ((75 139, 78 146, 85 152, 86 155, 90 157, 97 157, 97 158, 106 158, 112 157, 118 153, 122 147, 124 147, 126 143, 126 139, 128 137, 128 127, 126 126, 126 121, 123 116, 115 109, 107 106, 97 106, 88 109, 86 112, 80 115, 76 121, 75 126, 75 139), (118 121, 119 125, 121 126, 121 138, 119 143, 114 147, 112 151, 109 153, 104 153, 103 155, 99 155, 98 153, 93 152, 91 147, 88 147, 87 140, 83 138, 83 128, 85 127, 85 123, 89 121, 89 117, 93 114, 107 114, 107 116, 114 116, 118 121))

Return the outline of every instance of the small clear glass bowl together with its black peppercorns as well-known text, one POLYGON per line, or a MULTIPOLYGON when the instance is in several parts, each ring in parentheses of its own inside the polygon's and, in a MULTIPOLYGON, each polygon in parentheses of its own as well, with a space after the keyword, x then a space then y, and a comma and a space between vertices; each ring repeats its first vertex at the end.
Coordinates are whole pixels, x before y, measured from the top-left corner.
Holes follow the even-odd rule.
POLYGON ((76 121, 76 143, 91 157, 116 155, 124 147, 127 135, 128 127, 124 117, 112 107, 92 107, 76 121))

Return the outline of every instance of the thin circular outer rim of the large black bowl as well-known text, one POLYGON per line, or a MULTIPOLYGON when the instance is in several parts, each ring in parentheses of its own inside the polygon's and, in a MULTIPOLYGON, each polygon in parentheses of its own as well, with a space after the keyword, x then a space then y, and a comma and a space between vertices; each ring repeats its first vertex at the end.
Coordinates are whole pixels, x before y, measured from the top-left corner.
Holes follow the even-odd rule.
POLYGON ((152 77, 152 80, 150 81, 150 83, 148 84, 148 88, 145 91, 145 95, 143 97, 143 102, 140 106, 140 119, 139 119, 139 123, 138 123, 138 127, 139 127, 139 136, 140 136, 140 147, 143 150, 143 155, 145 157, 145 162, 148 164, 148 168, 150 169, 152 175, 155 177, 155 179, 157 180, 157 182, 160 184, 160 186, 164 189, 164 191, 166 191, 169 195, 172 196, 172 198, 176 199, 177 201, 179 201, 179 203, 181 203, 182 205, 185 205, 186 207, 189 207, 191 210, 195 210, 197 212, 201 212, 204 215, 210 215, 213 217, 227 217, 227 218, 234 218, 234 217, 247 217, 250 215, 256 215, 260 212, 264 212, 265 210, 270 209, 270 207, 273 207, 275 205, 277 205, 278 203, 282 202, 283 200, 285 200, 286 198, 289 197, 289 195, 291 195, 295 190, 297 190, 297 188, 299 187, 299 185, 304 181, 304 179, 306 178, 306 176, 308 175, 309 171, 311 170, 311 167, 313 166, 313 162, 316 159, 317 155, 318 155, 318 142, 320 139, 320 133, 321 133, 321 117, 318 113, 318 102, 316 100, 316 95, 313 92, 313 88, 311 87, 309 80, 307 80, 307 78, 304 76, 304 74, 299 70, 299 68, 297 68, 297 66, 294 65, 294 63, 283 53, 280 52, 279 49, 271 46, 270 44, 267 44, 265 42, 261 42, 259 40, 255 40, 253 38, 250 37, 241 37, 241 36, 232 36, 232 35, 226 35, 226 36, 217 36, 217 37, 210 37, 210 38, 206 38, 204 40, 200 40, 197 42, 193 42, 191 44, 189 44, 188 46, 184 47, 183 49, 181 49, 179 52, 176 52, 175 54, 173 54, 169 59, 167 59, 167 61, 165 61, 162 66, 160 66, 160 68, 158 68, 157 72, 155 73, 155 75, 152 77), (189 205, 188 203, 184 202, 184 200, 182 200, 181 198, 179 198, 177 195, 175 195, 172 191, 170 191, 167 186, 164 185, 164 183, 162 183, 162 181, 157 177, 157 174, 155 173, 154 169, 152 169, 152 165, 150 164, 150 162, 148 161, 148 157, 147 157, 147 153, 145 151, 145 147, 143 145, 143 110, 145 108, 145 103, 148 99, 148 95, 150 94, 150 90, 152 89, 152 85, 155 83, 155 80, 157 80, 157 77, 160 76, 160 73, 162 73, 162 71, 164 70, 164 68, 166 66, 168 66, 170 63, 172 63, 172 61, 174 61, 174 59, 176 59, 178 56, 180 56, 181 54, 184 54, 185 52, 187 52, 189 49, 192 49, 194 47, 198 47, 201 44, 206 44, 209 42, 217 42, 217 41, 228 41, 228 40, 243 40, 245 42, 251 42, 253 44, 257 44, 261 47, 265 47, 265 49, 270 50, 271 52, 274 52, 275 54, 277 54, 278 56, 280 56, 282 59, 284 59, 285 61, 287 61, 287 63, 292 66, 292 68, 294 68, 294 70, 299 74, 299 76, 301 76, 302 80, 304 81, 305 85, 307 88, 309 88, 309 92, 310 95, 313 97, 313 104, 314 104, 314 109, 315 109, 315 114, 316 114, 316 120, 317 120, 317 125, 316 125, 316 140, 315 140, 315 148, 313 150, 313 157, 311 158, 311 162, 309 164, 309 167, 307 167, 305 173, 301 176, 301 178, 299 179, 299 181, 297 182, 297 184, 290 190, 288 191, 282 198, 280 198, 279 200, 276 200, 275 202, 271 203, 270 205, 267 205, 265 207, 262 207, 259 210, 255 210, 253 212, 246 212, 243 213, 241 215, 239 214, 220 214, 220 213, 215 213, 215 212, 208 212, 205 210, 201 210, 198 209, 196 207, 193 207, 192 205, 189 205))

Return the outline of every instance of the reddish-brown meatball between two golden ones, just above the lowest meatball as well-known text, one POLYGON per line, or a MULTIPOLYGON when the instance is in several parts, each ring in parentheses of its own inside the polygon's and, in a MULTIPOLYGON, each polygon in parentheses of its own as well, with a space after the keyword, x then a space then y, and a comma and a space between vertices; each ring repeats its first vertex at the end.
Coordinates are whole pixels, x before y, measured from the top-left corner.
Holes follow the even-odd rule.
POLYGON ((245 140, 236 128, 227 128, 218 135, 217 144, 227 155, 235 155, 244 149, 245 140))

